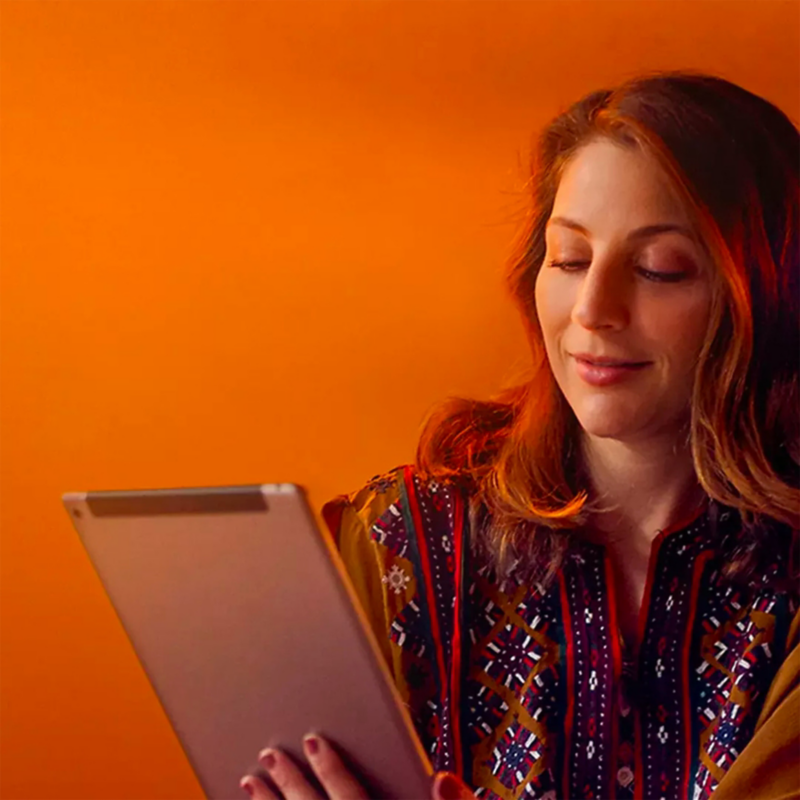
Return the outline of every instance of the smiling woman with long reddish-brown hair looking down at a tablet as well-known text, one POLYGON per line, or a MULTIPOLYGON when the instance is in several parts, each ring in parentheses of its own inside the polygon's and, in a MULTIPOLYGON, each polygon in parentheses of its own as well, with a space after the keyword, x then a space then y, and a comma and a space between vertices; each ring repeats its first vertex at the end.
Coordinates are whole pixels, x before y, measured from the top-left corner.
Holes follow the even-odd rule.
POLYGON ((719 78, 573 105, 510 270, 530 380, 324 509, 435 769, 479 797, 800 795, 798 156, 719 78))

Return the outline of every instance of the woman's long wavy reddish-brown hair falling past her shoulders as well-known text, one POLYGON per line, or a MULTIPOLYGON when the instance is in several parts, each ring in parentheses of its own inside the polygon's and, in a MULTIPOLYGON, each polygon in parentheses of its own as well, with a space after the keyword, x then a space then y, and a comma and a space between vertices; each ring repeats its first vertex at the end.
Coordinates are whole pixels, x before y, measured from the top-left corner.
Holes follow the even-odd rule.
POLYGON ((636 78, 587 95, 543 130, 507 276, 530 342, 530 379, 490 401, 437 408, 417 468, 469 487, 478 545, 499 576, 552 579, 591 508, 580 428, 547 361, 534 286, 564 167, 599 138, 659 161, 717 267, 689 435, 700 484, 737 509, 754 537, 726 567, 742 574, 764 523, 800 527, 800 137, 776 106, 718 77, 636 78))

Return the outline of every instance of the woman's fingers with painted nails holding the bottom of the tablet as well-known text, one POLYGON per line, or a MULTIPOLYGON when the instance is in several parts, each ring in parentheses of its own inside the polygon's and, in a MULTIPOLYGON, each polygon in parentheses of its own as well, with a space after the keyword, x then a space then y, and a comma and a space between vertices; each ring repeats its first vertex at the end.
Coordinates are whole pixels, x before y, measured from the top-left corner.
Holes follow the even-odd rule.
MULTIPOLYGON (((303 750, 328 800, 367 800, 364 787, 325 739, 309 734, 303 739, 303 750)), ((267 748, 259 753, 258 760, 285 800, 324 800, 286 753, 277 748, 267 748)), ((245 775, 239 785, 253 800, 281 800, 254 775, 245 775)), ((467 786, 449 772, 436 775, 431 797, 433 800, 475 800, 467 786)))

